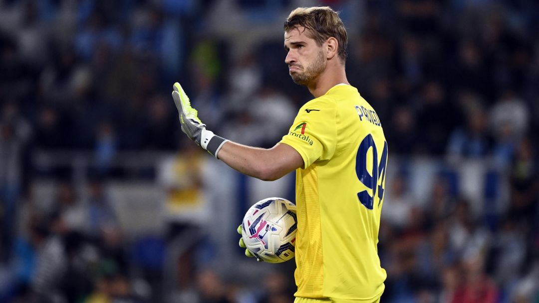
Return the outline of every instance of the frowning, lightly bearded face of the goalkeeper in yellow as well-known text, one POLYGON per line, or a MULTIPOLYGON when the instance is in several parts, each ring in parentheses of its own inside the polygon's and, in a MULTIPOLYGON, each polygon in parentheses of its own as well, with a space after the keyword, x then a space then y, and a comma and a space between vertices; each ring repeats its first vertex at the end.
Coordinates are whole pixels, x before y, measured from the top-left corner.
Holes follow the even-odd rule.
POLYGON ((288 72, 296 84, 309 85, 326 68, 326 57, 322 47, 309 38, 305 27, 299 26, 285 32, 285 63, 288 72))

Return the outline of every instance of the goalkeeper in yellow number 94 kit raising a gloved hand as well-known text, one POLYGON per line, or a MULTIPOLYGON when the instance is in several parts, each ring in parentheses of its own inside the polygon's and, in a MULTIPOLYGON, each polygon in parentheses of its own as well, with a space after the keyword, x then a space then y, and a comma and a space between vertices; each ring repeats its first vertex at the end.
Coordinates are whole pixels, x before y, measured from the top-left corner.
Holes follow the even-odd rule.
POLYGON ((182 131, 245 175, 272 181, 296 171, 295 302, 378 302, 386 278, 377 250, 388 157, 381 121, 347 80, 348 37, 335 11, 295 9, 284 31, 289 75, 314 99, 280 142, 262 149, 214 134, 175 83, 182 131))

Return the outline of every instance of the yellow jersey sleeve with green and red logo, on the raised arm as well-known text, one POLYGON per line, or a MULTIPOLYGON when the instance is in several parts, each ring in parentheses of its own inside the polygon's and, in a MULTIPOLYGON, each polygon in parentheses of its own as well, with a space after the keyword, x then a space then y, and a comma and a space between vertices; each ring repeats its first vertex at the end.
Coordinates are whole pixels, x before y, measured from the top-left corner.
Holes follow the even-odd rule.
POLYGON ((335 111, 335 102, 329 98, 307 102, 298 112, 288 134, 279 142, 291 146, 301 155, 303 168, 333 156, 337 140, 335 111))

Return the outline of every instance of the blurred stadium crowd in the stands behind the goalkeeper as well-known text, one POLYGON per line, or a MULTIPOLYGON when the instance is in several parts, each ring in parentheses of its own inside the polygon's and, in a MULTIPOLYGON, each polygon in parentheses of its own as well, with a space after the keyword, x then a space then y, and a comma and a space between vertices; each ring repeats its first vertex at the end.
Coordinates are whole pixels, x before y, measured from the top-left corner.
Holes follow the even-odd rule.
MULTIPOLYGON (((1 0, 0 301, 292 302, 248 206, 294 200, 187 142, 271 147, 305 88, 282 22, 330 5, 390 157, 382 302, 539 302, 539 4, 532 0, 1 0)), ((335 201, 338 203, 338 201, 335 201)))

